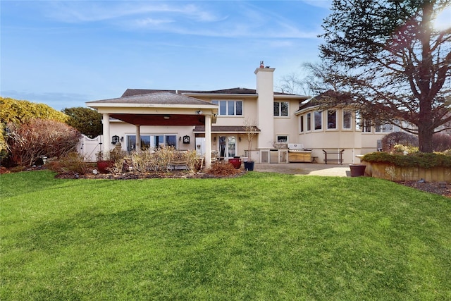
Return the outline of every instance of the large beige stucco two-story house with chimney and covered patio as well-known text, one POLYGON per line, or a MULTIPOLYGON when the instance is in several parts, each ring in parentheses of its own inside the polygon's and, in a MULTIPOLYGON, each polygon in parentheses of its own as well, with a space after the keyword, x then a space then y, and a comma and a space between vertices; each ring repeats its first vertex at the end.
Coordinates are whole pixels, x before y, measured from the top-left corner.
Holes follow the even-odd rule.
MULTIPOLYGON (((374 152, 393 128, 363 127, 354 111, 321 111, 314 98, 274 92, 274 68, 263 62, 254 73, 256 89, 233 88, 214 91, 126 90, 121 97, 87 102, 103 114, 104 150, 121 142, 123 150, 171 145, 196 149, 228 159, 251 156, 257 163, 297 161, 288 146, 318 163, 342 151, 343 164, 358 161, 356 155, 374 152), (248 152, 244 125, 257 125, 257 135, 248 152), (299 150, 301 148, 301 150, 299 150)), ((206 165, 211 162, 205 156, 206 165)), ((338 161, 336 163, 339 163, 338 161)))

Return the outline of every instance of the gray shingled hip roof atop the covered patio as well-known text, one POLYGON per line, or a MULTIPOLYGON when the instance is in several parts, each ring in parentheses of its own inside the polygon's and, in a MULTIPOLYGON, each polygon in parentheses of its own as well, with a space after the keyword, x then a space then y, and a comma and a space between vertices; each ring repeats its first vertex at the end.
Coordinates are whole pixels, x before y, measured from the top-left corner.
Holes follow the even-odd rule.
POLYGON ((211 105, 210 102, 204 102, 194 97, 175 94, 171 92, 154 92, 147 94, 135 94, 132 96, 119 97, 113 99, 95 100, 87 102, 89 104, 192 104, 192 105, 211 105))

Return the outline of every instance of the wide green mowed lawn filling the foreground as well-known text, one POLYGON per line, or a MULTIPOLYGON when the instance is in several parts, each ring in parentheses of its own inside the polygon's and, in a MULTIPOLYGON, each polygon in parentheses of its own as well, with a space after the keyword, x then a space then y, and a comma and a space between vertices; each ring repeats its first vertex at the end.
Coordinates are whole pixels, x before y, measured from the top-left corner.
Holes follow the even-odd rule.
POLYGON ((451 201, 376 178, 0 178, 0 300, 451 300, 451 201))

